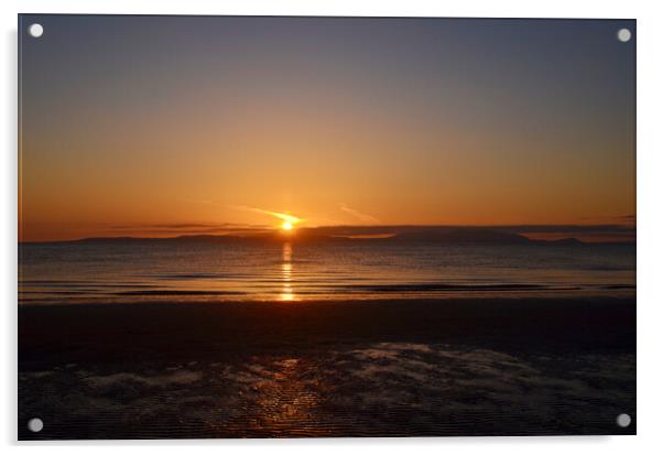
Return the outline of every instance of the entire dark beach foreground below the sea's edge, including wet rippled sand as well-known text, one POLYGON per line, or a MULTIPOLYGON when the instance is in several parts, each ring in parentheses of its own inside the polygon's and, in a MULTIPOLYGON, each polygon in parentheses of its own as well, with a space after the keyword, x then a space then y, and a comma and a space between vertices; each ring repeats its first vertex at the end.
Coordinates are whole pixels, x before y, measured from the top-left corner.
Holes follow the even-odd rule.
POLYGON ((19 307, 23 440, 634 434, 634 299, 19 307))

